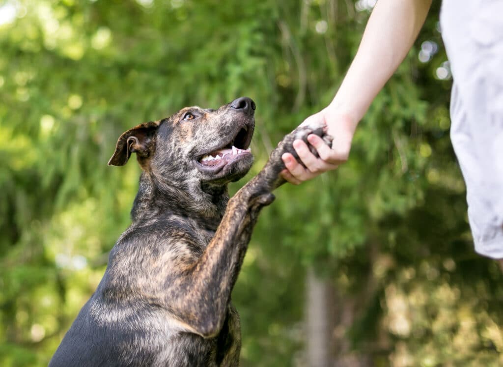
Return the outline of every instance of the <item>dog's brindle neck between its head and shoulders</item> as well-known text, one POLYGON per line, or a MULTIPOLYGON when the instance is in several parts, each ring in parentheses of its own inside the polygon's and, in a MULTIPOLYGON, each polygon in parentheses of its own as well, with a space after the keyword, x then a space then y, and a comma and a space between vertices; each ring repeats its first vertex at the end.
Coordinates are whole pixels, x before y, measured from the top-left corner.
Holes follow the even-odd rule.
POLYGON ((143 172, 131 218, 133 222, 140 222, 152 217, 178 215, 193 219, 201 228, 215 231, 228 200, 227 185, 167 184, 143 172), (197 200, 196 195, 191 194, 194 191, 199 191, 197 200))

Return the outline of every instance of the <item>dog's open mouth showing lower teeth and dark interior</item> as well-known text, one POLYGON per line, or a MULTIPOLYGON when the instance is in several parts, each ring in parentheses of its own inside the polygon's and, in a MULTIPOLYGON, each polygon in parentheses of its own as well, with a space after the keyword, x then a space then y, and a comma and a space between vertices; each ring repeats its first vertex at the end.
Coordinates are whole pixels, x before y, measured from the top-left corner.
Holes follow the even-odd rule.
POLYGON ((243 156, 250 155, 251 135, 253 135, 253 128, 242 127, 228 144, 200 157, 198 163, 203 167, 216 169, 243 156))

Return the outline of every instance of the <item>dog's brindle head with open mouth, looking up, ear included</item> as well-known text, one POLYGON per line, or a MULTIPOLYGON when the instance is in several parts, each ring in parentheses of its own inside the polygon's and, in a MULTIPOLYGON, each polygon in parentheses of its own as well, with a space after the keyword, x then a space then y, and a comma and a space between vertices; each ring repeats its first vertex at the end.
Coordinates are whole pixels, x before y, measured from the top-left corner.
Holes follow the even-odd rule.
POLYGON ((254 113, 255 103, 246 97, 217 110, 183 108, 124 132, 108 164, 125 165, 136 153, 143 171, 167 184, 225 185, 243 177, 253 163, 254 113))

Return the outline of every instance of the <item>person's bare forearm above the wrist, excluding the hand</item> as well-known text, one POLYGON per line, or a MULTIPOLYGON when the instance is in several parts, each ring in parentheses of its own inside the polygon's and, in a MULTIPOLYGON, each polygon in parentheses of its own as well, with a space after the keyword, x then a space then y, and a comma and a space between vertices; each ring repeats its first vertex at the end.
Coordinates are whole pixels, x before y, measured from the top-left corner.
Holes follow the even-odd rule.
POLYGON ((425 22, 432 0, 378 0, 358 52, 328 108, 342 111, 353 123, 391 77, 425 22))

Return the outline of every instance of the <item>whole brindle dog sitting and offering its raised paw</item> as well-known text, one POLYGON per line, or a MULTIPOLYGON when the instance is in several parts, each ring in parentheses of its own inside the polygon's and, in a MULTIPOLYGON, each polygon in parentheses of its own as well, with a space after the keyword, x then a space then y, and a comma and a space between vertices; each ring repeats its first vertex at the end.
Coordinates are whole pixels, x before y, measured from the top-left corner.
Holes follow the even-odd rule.
POLYGON ((184 108, 119 137, 109 165, 134 152, 143 170, 133 223, 49 366, 238 365, 230 293, 259 211, 284 183, 281 155, 311 132, 330 142, 319 127, 297 128, 229 200, 227 184, 253 162, 254 110, 249 98, 184 108))

